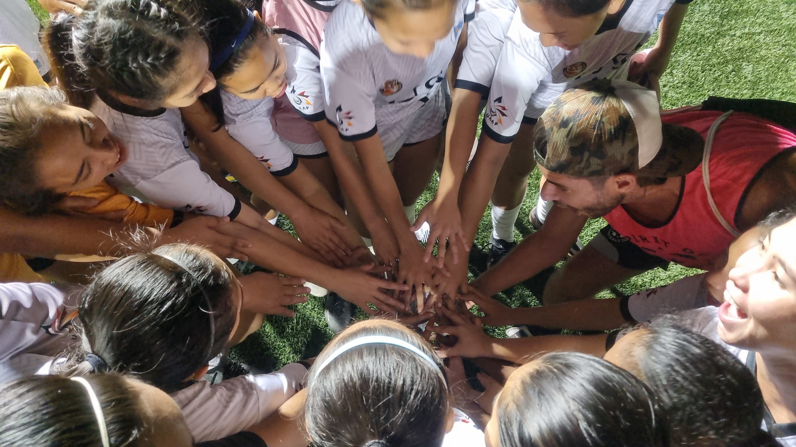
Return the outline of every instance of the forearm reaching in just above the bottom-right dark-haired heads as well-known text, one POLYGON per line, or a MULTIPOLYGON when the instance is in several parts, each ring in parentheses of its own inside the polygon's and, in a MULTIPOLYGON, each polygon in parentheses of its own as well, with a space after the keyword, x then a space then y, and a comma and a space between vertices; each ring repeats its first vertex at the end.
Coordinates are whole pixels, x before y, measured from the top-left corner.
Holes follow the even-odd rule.
POLYGON ((486 356, 520 364, 528 363, 547 352, 583 352, 602 357, 606 352, 607 338, 608 334, 494 338, 490 340, 486 356))

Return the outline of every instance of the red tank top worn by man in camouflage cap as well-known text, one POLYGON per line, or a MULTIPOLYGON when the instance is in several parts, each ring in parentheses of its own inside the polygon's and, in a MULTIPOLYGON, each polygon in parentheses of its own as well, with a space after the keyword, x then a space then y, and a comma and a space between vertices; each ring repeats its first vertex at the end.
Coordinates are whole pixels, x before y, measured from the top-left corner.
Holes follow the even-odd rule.
MULTIPOLYGON (((680 111, 663 122, 690 127, 706 138, 720 111, 680 111)), ((735 226, 743 192, 772 157, 796 146, 796 135, 754 115, 735 113, 719 127, 710 154, 710 190, 724 219, 735 226)), ((652 255, 683 266, 714 270, 735 236, 713 214, 702 182, 702 165, 685 176, 680 203, 669 222, 646 227, 622 206, 605 220, 618 233, 652 255)))

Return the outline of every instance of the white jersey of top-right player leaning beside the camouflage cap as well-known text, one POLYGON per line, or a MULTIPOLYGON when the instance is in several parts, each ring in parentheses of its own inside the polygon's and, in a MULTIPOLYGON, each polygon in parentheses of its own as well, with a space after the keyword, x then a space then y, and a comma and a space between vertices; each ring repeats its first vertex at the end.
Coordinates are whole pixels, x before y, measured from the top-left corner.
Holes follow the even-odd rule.
POLYGON ((626 0, 578 49, 545 47, 514 13, 495 68, 484 114, 486 134, 509 143, 523 116, 534 119, 570 87, 599 78, 625 79, 627 62, 660 25, 674 0, 626 0), (527 113, 526 113, 527 109, 527 113))

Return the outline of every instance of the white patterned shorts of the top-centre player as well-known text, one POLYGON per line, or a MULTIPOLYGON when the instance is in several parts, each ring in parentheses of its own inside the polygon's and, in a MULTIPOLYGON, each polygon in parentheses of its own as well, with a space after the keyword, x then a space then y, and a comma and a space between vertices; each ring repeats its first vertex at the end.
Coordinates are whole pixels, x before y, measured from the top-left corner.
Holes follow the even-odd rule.
POLYGON ((440 84, 435 94, 415 112, 411 120, 396 122, 395 126, 384 133, 379 130, 379 138, 387 161, 392 161, 400 148, 424 142, 445 129, 451 94, 447 82, 440 84))

